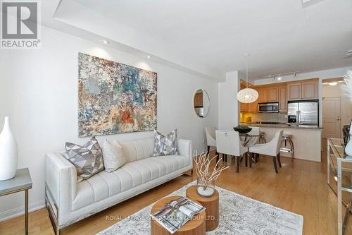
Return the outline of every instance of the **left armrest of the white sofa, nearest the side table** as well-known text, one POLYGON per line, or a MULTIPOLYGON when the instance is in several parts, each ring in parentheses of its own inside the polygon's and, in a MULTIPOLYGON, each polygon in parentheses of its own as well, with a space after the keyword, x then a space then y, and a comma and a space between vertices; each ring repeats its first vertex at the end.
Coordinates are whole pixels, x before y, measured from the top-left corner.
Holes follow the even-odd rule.
POLYGON ((77 192, 75 166, 61 153, 46 154, 45 182, 58 207, 70 207, 77 192))

